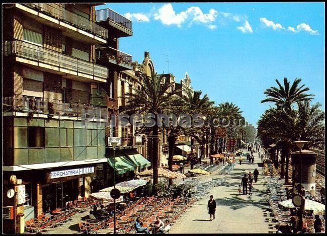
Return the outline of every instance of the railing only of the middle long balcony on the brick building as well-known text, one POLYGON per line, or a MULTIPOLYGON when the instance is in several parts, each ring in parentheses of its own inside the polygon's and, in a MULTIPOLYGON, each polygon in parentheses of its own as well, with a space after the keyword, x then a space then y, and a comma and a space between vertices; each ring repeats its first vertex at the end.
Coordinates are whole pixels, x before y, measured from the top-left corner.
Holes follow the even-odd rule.
POLYGON ((19 40, 4 42, 3 55, 9 56, 13 54, 26 59, 58 66, 59 68, 107 78, 107 67, 105 66, 97 65, 96 63, 78 59, 73 56, 68 56, 31 43, 19 40))

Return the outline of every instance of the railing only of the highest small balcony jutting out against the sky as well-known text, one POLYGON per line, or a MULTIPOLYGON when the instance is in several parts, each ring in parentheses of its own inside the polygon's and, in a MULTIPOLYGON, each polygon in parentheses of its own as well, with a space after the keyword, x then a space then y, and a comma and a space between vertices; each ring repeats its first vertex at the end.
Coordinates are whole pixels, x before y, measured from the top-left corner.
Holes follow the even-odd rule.
POLYGON ((110 20, 132 31, 132 22, 109 8, 97 10, 96 15, 97 22, 110 20))

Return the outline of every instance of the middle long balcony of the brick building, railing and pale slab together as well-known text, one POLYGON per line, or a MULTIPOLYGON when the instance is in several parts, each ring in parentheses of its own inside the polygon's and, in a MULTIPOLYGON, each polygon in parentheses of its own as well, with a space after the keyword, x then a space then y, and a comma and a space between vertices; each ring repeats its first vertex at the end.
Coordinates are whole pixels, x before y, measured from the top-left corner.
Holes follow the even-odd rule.
POLYGON ((106 82, 107 68, 96 63, 15 40, 3 43, 3 56, 81 82, 106 82))

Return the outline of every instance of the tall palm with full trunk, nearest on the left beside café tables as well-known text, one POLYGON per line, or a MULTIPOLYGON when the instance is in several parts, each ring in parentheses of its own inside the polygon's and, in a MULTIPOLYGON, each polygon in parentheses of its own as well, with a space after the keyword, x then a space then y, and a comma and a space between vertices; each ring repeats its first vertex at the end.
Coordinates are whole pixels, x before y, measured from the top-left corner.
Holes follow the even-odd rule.
POLYGON ((158 183, 158 161, 159 161, 159 126, 157 123, 158 114, 171 114, 181 106, 181 99, 177 96, 178 91, 173 90, 173 83, 166 80, 164 76, 151 77, 140 75, 143 83, 130 96, 129 103, 123 112, 137 113, 143 116, 153 114, 154 125, 151 126, 152 142, 152 166, 153 166, 153 190, 155 192, 158 183))

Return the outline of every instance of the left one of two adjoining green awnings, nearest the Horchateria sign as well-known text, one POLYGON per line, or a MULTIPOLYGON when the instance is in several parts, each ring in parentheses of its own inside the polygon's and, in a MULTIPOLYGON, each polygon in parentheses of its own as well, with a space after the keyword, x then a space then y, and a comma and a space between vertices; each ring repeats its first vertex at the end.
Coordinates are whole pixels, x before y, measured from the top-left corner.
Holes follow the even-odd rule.
MULTIPOLYGON (((124 174, 129 171, 135 171, 135 165, 127 158, 127 156, 120 150, 116 150, 115 154, 115 169, 118 174, 124 174)), ((114 168, 114 152, 110 152, 106 155, 108 164, 114 168)))

